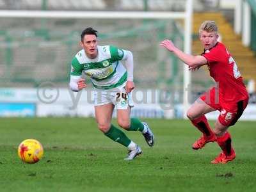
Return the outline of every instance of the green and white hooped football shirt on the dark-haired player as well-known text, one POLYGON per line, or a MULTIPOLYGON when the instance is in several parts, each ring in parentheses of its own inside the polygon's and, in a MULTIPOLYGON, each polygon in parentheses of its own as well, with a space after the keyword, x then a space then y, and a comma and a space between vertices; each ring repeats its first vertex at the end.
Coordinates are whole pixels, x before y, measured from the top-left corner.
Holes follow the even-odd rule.
POLYGON ((95 59, 88 58, 84 49, 77 52, 72 60, 70 78, 79 79, 84 72, 92 80, 93 86, 102 90, 125 84, 127 70, 120 60, 126 58, 128 51, 111 45, 98 45, 97 49, 98 56, 95 59))

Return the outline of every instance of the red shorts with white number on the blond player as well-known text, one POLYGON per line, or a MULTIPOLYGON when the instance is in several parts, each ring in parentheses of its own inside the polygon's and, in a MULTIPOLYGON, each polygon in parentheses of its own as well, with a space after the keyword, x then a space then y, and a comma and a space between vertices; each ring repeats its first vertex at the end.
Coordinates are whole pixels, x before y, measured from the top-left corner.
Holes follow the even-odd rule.
POLYGON ((222 125, 227 127, 236 124, 237 120, 243 114, 249 100, 249 98, 247 98, 239 100, 238 102, 224 102, 218 90, 216 90, 216 87, 205 92, 200 99, 204 100, 207 105, 221 112, 218 120, 222 125))

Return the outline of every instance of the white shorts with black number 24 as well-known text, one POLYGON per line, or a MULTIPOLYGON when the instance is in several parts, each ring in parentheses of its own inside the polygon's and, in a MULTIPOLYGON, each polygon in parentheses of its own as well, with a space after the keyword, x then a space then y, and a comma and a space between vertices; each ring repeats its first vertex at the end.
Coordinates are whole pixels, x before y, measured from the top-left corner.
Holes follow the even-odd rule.
POLYGON ((134 107, 131 93, 127 93, 124 87, 115 90, 94 90, 94 106, 102 106, 112 103, 116 109, 134 107))

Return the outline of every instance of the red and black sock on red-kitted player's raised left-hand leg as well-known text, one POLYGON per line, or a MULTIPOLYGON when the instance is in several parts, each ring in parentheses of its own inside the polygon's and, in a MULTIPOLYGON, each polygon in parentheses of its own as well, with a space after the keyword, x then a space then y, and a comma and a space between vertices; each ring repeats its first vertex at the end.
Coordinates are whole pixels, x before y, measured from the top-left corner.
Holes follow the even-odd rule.
POLYGON ((212 132, 205 115, 202 115, 191 122, 197 127, 197 129, 199 129, 199 131, 204 134, 206 138, 211 138, 212 136, 214 136, 214 133, 212 132))

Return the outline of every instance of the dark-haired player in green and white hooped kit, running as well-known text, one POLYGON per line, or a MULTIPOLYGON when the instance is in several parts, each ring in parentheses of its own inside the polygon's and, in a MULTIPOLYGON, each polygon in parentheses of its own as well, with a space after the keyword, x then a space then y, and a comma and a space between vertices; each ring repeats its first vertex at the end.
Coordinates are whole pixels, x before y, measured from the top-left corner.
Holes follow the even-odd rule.
POLYGON ((125 160, 132 160, 142 153, 141 148, 120 129, 111 124, 116 107, 118 125, 127 131, 141 131, 148 145, 154 145, 154 134, 145 122, 130 118, 133 83, 133 56, 131 51, 111 45, 99 46, 97 31, 86 28, 81 33, 80 45, 72 60, 70 89, 78 92, 86 87, 82 72, 90 77, 94 90, 95 117, 100 131, 113 141, 128 148, 125 160), (126 68, 120 61, 125 61, 126 68))

